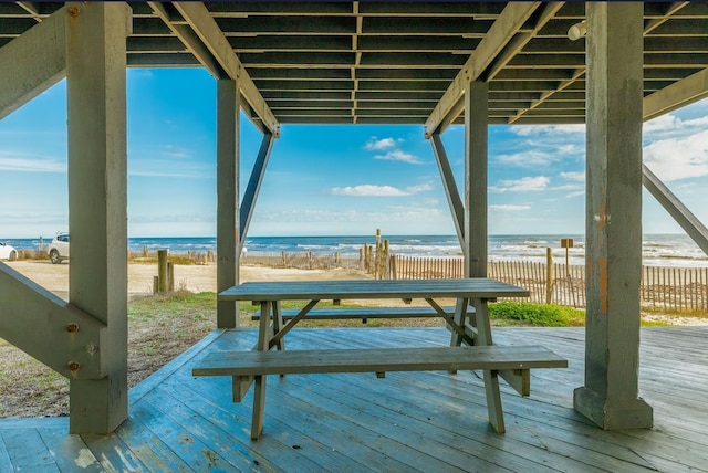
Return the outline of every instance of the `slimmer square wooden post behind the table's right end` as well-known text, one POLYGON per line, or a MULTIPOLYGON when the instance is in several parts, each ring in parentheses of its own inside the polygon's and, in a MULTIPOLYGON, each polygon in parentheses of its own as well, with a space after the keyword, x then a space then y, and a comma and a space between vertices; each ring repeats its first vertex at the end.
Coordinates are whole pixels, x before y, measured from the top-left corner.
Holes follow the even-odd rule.
POLYGON ((465 94, 465 277, 487 277, 489 84, 470 82, 465 94))

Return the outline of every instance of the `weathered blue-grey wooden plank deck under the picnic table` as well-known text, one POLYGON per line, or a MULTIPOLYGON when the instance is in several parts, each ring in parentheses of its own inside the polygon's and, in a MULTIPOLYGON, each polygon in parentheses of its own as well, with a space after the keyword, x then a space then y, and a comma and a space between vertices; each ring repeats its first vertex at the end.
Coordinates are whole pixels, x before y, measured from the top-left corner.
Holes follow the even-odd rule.
MULTIPOLYGON (((131 417, 105 437, 69 435, 66 418, 0 420, 6 471, 708 471, 708 327, 642 329, 642 397, 652 430, 606 432, 572 408, 583 383, 584 330, 496 328, 499 344, 541 344, 568 369, 531 371, 531 397, 504 386, 507 433, 492 432, 473 372, 272 376, 266 428, 249 437, 252 390, 192 378, 211 350, 254 344, 216 332, 131 391, 131 417)), ((447 345, 444 328, 293 330, 289 348, 447 345), (386 336, 383 336, 383 333, 386 336)))

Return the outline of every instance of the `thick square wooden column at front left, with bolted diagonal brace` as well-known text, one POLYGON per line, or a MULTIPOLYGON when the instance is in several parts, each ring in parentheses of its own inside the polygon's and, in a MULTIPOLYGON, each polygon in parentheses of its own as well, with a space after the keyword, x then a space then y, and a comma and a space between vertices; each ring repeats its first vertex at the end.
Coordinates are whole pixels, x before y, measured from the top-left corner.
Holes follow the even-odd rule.
MULTIPOLYGON (((101 379, 70 380, 70 431, 107 433, 127 418, 125 3, 66 6, 70 302, 106 325, 101 379)), ((79 327, 81 330, 81 327, 79 327)), ((75 366, 81 372, 81 366, 75 366)))

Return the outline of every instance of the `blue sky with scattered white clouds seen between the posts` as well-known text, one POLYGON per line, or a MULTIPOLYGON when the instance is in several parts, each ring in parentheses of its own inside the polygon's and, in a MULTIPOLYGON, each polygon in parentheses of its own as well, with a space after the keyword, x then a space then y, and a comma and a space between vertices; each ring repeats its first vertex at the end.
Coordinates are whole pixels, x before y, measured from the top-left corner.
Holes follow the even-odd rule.
MULTIPOLYGON (((216 233, 216 83, 201 69, 129 70, 128 234, 216 233)), ((241 124, 241 192, 261 135, 241 124)), ((462 189, 464 134, 444 141, 462 189)), ((491 234, 582 234, 583 126, 492 126, 491 234)), ((644 161, 708 222, 708 101, 644 126, 644 161)), ((62 81, 0 120, 0 239, 67 229, 62 81)), ((681 229, 644 192, 645 233, 681 229)), ((421 126, 283 125, 250 235, 454 234, 421 126)))

